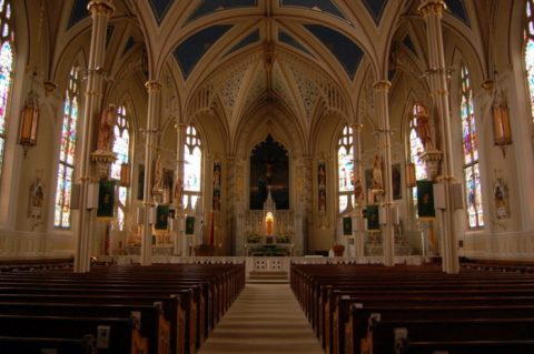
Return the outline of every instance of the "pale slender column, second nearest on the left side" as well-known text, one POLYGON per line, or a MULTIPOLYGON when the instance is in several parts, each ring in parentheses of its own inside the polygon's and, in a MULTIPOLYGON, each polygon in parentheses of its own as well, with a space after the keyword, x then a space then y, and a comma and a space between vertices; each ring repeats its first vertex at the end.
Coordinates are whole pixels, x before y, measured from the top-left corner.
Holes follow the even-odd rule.
POLYGON ((145 220, 142 224, 141 239, 141 265, 150 265, 152 263, 152 220, 150 220, 151 209, 155 208, 152 201, 152 154, 156 146, 155 134, 157 134, 156 119, 159 117, 161 84, 158 81, 147 81, 145 84, 148 91, 148 112, 147 129, 145 142, 145 185, 144 201, 145 220))

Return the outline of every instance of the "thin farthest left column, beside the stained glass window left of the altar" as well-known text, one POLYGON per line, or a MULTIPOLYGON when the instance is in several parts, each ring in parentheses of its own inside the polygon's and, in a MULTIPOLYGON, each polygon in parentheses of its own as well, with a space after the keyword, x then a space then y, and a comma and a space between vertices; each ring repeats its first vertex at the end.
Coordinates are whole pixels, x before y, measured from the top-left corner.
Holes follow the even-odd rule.
POLYGON ((176 205, 176 222, 178 223, 178 231, 176 233, 175 240, 175 254, 178 254, 178 246, 181 242, 181 255, 188 255, 189 245, 187 244, 186 229, 185 229, 185 219, 184 214, 184 152, 185 152, 185 140, 186 140, 186 129, 187 124, 177 122, 176 123, 176 175, 175 175, 175 189, 178 189, 178 192, 175 193, 175 205, 176 205))

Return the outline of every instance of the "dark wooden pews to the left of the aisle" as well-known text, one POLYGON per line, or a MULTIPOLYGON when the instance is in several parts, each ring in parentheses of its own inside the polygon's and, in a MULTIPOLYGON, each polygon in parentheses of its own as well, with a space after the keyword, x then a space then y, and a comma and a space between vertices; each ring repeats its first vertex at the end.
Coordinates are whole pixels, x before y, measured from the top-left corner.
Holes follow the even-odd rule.
POLYGON ((0 352, 192 354, 244 286, 244 264, 0 273, 0 352))

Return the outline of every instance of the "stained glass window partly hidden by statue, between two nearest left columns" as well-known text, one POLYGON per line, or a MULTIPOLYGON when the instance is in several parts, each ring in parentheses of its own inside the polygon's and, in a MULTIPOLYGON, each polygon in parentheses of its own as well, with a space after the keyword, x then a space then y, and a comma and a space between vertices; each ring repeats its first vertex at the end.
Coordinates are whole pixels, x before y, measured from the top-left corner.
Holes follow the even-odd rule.
MULTIPOLYGON (((120 166, 123 163, 128 163, 130 151, 129 124, 126 115, 126 108, 123 105, 119 107, 117 110, 117 122, 113 128, 113 152, 117 154, 117 160, 111 164, 111 179, 119 181, 120 166)), ((128 188, 118 185, 117 193, 117 225, 119 230, 123 230, 128 188)))

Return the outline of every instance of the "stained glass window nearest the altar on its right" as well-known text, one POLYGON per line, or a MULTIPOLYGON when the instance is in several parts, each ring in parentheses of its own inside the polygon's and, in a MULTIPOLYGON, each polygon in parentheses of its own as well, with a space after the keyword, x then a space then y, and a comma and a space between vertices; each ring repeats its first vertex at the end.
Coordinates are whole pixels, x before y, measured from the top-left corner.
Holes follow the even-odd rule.
POLYGON ((353 151, 353 129, 345 125, 342 135, 337 142, 337 176, 338 176, 338 196, 339 213, 348 208, 349 196, 354 205, 354 151, 353 151))

